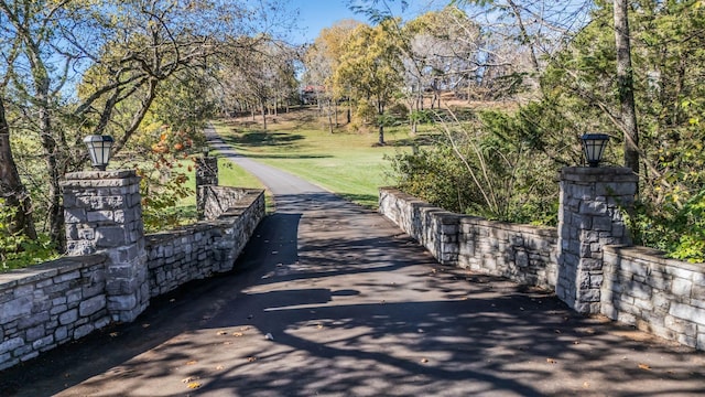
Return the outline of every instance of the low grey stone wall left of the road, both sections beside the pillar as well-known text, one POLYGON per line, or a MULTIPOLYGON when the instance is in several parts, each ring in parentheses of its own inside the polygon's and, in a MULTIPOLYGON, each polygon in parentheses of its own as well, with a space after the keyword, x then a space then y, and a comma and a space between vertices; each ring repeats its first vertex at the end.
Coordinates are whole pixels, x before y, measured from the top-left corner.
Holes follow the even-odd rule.
MULTIPOLYGON (((262 191, 218 187, 209 194, 224 194, 210 202, 227 203, 209 208, 214 219, 145 236, 150 297, 232 269, 264 216, 262 191)), ((0 273, 0 369, 108 325, 115 319, 109 281, 120 276, 111 270, 112 257, 99 251, 0 273)))

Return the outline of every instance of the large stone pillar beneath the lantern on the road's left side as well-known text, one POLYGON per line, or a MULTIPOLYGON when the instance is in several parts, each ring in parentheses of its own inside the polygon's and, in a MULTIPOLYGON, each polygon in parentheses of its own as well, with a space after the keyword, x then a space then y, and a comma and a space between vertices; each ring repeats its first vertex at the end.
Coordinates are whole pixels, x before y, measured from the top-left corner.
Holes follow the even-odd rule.
POLYGON ((108 311, 113 321, 133 321, 150 298, 140 178, 134 171, 74 172, 62 186, 67 254, 108 256, 108 311))

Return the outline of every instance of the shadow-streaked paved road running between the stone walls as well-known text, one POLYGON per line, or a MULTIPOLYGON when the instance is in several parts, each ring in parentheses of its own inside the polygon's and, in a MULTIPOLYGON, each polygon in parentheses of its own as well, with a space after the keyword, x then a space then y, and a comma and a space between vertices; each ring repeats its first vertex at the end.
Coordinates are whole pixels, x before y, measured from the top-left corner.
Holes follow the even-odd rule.
POLYGON ((0 373, 0 395, 705 396, 703 353, 438 266, 378 214, 225 155, 278 208, 240 270, 0 373))

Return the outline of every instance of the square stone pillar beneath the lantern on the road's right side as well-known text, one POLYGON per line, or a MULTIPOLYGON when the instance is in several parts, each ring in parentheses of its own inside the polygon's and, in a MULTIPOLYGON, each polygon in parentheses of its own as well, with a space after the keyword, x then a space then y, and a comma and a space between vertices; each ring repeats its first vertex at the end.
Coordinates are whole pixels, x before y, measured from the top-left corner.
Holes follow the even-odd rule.
POLYGON ((556 294, 575 311, 599 313, 603 246, 631 245, 622 214, 639 179, 627 168, 561 170, 556 294))

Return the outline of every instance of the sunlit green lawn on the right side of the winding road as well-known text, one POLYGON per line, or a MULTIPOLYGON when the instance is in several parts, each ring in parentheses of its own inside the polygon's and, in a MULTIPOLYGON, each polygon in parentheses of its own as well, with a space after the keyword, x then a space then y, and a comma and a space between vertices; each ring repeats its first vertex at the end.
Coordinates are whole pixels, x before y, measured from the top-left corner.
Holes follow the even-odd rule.
POLYGON ((370 208, 377 207, 378 189, 392 183, 386 178, 389 161, 384 155, 405 150, 394 143, 408 141, 405 131, 390 131, 386 135, 390 144, 377 147, 377 133, 330 133, 325 125, 295 115, 280 117, 268 131, 258 124, 232 120, 219 120, 214 126, 240 153, 370 208))

